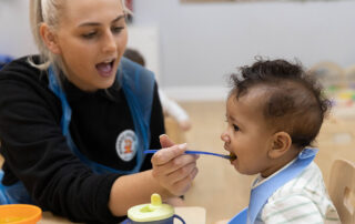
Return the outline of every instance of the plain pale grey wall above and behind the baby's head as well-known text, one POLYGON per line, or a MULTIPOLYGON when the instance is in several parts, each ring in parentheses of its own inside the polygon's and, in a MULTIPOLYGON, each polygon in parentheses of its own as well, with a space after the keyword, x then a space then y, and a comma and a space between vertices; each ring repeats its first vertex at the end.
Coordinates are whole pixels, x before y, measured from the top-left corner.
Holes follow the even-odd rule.
POLYGON ((187 4, 134 0, 134 24, 159 27, 161 85, 172 94, 180 92, 174 95, 179 99, 206 86, 225 86, 225 75, 256 54, 297 58, 306 67, 321 60, 342 67, 355 63, 352 0, 187 4))

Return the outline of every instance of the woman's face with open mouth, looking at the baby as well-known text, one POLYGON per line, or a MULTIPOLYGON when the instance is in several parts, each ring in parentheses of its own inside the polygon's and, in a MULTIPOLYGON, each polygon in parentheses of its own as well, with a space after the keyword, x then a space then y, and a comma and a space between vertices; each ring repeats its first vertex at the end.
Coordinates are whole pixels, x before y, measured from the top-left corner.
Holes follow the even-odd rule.
POLYGON ((73 84, 83 91, 111 86, 128 41, 121 1, 67 1, 55 38, 73 84))

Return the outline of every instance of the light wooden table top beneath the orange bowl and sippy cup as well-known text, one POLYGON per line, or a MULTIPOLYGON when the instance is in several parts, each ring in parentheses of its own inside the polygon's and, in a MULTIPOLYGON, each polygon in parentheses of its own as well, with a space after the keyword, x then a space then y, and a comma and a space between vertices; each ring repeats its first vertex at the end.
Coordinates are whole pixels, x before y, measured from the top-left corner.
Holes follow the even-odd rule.
MULTIPOLYGON (((186 224, 205 224, 206 223, 206 211, 204 207, 195 207, 195 206, 183 206, 175 207, 175 214, 180 215, 186 224)), ((42 220, 39 224, 70 224, 72 222, 53 216, 50 212, 44 212, 42 220)), ((180 221, 174 221, 174 224, 180 224, 180 221)))

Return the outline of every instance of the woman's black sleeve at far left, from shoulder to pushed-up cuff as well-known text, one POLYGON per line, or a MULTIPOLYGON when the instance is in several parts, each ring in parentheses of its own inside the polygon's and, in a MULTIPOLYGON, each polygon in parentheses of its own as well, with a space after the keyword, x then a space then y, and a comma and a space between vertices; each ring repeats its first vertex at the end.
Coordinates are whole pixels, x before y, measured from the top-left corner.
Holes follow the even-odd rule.
POLYGON ((43 210, 77 222, 116 221, 108 202, 118 174, 93 174, 68 147, 61 105, 45 74, 27 59, 0 71, 0 139, 3 184, 19 180, 43 210))

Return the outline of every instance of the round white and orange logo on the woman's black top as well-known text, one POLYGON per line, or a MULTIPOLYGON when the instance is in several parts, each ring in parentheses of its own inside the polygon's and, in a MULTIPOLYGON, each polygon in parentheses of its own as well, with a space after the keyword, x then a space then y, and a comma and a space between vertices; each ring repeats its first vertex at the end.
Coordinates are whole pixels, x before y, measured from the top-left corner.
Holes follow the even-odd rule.
POLYGON ((123 161, 131 161, 138 149, 138 139, 132 130, 125 130, 120 133, 115 142, 115 150, 118 155, 123 161))

